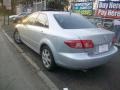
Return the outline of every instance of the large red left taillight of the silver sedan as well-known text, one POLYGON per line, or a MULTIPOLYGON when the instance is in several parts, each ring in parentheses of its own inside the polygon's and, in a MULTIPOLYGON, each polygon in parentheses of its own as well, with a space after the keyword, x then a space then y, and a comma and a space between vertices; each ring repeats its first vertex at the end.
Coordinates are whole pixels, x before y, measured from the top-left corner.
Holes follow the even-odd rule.
POLYGON ((71 48, 93 48, 92 40, 68 40, 64 42, 71 48))

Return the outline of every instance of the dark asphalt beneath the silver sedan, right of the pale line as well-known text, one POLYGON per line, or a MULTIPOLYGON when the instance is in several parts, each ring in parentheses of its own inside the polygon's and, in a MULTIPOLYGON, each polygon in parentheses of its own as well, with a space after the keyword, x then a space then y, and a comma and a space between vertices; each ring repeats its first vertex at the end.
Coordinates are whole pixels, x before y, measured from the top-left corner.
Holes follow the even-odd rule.
MULTIPOLYGON (((13 27, 4 26, 3 28, 12 38, 13 27)), ((19 46, 60 90, 63 88, 69 90, 120 90, 120 51, 111 58, 109 63, 87 72, 61 67, 58 67, 54 72, 48 72, 43 68, 38 54, 24 44, 19 46)))

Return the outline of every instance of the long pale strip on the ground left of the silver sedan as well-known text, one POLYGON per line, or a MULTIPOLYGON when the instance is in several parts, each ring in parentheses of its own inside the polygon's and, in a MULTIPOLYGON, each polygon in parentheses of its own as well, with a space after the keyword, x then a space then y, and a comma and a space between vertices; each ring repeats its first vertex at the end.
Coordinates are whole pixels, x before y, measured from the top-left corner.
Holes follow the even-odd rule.
POLYGON ((40 71, 40 67, 28 55, 23 52, 23 50, 12 40, 11 37, 7 35, 4 30, 3 33, 7 37, 7 39, 17 48, 17 50, 21 52, 21 55, 25 58, 25 60, 27 60, 37 70, 38 76, 45 82, 45 84, 51 90, 59 90, 59 88, 47 77, 47 75, 43 71, 40 71))

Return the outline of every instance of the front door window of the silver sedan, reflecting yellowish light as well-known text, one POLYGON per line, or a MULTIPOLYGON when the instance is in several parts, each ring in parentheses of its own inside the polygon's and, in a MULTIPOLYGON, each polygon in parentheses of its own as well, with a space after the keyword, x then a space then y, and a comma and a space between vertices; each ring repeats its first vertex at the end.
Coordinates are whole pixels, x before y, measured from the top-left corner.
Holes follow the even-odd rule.
POLYGON ((25 23, 25 24, 30 24, 30 25, 34 25, 37 16, 38 16, 38 13, 33 13, 33 14, 29 15, 26 19, 24 19, 24 20, 23 20, 23 23, 25 23))

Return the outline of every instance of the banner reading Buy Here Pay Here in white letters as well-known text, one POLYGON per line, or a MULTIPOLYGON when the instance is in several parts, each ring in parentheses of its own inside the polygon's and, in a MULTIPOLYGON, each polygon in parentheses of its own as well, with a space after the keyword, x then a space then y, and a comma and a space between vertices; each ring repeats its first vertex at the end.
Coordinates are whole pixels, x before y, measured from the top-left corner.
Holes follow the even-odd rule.
POLYGON ((120 19, 120 1, 100 1, 95 15, 120 19))

